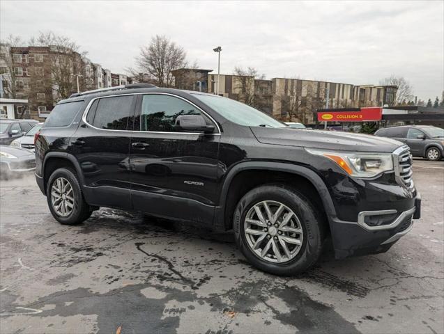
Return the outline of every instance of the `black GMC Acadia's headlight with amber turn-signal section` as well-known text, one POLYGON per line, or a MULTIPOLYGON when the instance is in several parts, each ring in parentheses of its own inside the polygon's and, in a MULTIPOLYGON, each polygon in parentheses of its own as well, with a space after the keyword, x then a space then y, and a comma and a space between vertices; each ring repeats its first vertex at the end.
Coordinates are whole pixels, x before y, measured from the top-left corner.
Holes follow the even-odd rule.
POLYGON ((305 149, 335 161, 347 174, 355 177, 375 177, 383 172, 393 170, 391 153, 339 152, 305 149))

